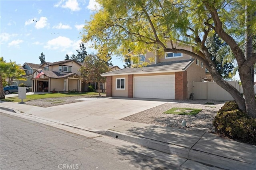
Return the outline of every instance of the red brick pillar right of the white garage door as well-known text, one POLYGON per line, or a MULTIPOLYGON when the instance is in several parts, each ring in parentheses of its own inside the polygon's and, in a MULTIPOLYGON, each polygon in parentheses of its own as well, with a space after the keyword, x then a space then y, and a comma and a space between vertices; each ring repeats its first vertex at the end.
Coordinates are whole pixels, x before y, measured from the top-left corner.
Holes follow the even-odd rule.
POLYGON ((175 72, 175 100, 187 98, 187 71, 175 72))

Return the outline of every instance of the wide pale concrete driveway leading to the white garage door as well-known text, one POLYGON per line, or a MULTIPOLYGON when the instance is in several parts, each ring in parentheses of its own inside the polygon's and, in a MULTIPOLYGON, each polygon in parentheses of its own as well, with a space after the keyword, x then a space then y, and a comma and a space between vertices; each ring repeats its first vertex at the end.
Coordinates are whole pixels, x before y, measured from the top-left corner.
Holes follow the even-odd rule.
POLYGON ((11 102, 4 102, 2 105, 17 108, 22 113, 50 121, 98 131, 130 124, 132 122, 120 119, 166 103, 130 98, 82 98, 79 100, 82 102, 52 107, 37 107, 11 102))

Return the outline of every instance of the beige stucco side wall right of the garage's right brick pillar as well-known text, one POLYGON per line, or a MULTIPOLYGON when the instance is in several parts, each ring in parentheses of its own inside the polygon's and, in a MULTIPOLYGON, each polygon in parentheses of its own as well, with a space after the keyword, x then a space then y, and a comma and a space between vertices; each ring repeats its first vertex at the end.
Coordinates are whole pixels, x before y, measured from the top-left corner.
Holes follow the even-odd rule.
POLYGON ((190 94, 193 93, 193 82, 202 82, 202 78, 205 78, 205 66, 202 68, 200 63, 201 61, 199 61, 199 65, 197 65, 195 59, 194 62, 186 69, 188 78, 187 98, 189 98, 190 94))

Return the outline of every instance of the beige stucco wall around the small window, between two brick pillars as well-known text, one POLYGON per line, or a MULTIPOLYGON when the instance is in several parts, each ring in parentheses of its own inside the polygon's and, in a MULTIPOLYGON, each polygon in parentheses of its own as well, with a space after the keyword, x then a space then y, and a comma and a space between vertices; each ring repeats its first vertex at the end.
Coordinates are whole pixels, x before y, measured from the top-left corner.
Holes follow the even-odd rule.
POLYGON ((122 76, 113 76, 112 79, 112 96, 121 96, 121 97, 127 97, 128 96, 128 76, 122 75, 122 76), (116 90, 116 78, 125 78, 125 90, 116 90))

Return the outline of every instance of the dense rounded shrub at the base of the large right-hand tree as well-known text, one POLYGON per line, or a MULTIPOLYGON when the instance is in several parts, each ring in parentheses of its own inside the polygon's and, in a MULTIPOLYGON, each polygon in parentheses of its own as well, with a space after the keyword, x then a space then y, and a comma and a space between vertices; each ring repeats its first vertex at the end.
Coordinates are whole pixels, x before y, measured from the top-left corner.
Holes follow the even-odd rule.
POLYGON ((227 102, 221 107, 213 126, 219 134, 256 145, 256 119, 239 110, 235 102, 227 102))

